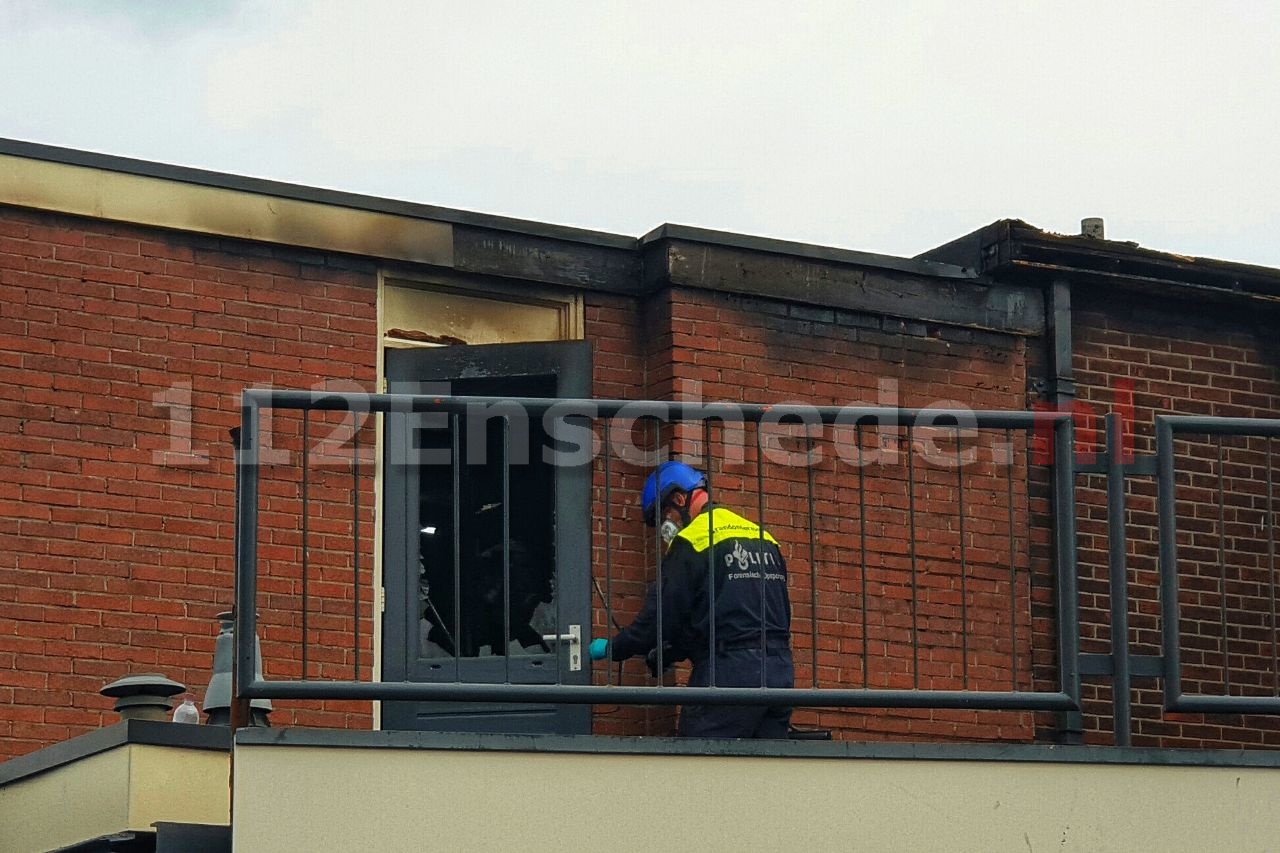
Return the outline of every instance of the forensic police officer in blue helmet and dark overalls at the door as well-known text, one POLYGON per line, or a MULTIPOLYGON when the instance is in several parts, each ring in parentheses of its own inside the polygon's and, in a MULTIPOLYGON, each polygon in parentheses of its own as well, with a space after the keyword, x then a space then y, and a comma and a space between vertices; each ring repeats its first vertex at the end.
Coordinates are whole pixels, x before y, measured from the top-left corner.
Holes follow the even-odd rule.
MULTIPOLYGON (((663 462, 640 496, 645 524, 662 524, 663 663, 692 661, 689 686, 790 688, 791 599, 777 540, 754 521, 710 500, 707 478, 684 462, 663 462), (714 578, 714 588, 710 580, 714 578), (714 605, 710 605, 714 601, 714 605), (714 620, 712 619, 714 612, 714 620)), ((654 654, 658 587, 640 613, 612 639, 591 642, 593 660, 654 654)), ((786 738, 786 706, 686 706, 686 738, 786 738)))

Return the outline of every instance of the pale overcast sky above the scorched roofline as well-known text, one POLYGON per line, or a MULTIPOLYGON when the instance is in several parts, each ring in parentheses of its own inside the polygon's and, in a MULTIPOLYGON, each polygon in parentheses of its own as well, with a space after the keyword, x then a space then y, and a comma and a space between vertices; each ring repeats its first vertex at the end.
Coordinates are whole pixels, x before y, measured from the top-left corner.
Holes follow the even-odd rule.
POLYGON ((639 236, 1280 266, 1280 3, 0 0, 0 136, 639 236))

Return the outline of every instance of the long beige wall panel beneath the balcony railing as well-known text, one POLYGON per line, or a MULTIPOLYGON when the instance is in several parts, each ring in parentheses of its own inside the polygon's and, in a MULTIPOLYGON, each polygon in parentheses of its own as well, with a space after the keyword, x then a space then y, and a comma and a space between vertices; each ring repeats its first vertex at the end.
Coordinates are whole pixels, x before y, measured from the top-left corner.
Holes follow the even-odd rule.
POLYGON ((1265 768, 239 745, 236 774, 237 850, 1199 853, 1280 838, 1280 771, 1265 768))

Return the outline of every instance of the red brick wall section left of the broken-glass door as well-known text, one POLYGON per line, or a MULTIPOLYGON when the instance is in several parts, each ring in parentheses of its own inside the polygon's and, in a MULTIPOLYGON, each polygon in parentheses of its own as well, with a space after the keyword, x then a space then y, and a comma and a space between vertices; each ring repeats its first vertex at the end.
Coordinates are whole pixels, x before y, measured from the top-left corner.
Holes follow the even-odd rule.
MULTIPOLYGON (((238 394, 371 388, 374 284, 346 257, 0 209, 0 756, 113 721, 97 692, 125 674, 202 698, 232 603, 238 394)), ((269 674, 296 667, 270 599, 298 592, 292 500, 265 505, 283 512, 264 521, 269 674)), ((349 628, 349 587, 323 576, 349 583, 347 502, 314 507, 335 539, 311 590, 325 630, 349 628)), ((274 721, 367 726, 369 707, 291 703, 274 721)))

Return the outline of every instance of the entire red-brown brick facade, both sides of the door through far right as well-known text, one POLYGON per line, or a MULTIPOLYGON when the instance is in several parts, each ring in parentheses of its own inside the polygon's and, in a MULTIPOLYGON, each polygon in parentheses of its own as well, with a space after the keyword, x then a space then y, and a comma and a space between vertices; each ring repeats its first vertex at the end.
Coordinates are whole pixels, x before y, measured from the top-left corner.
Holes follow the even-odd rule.
MULTIPOLYGON (((0 209, 0 756, 110 722, 97 692, 125 674, 161 671, 202 698, 215 615, 232 598, 238 394, 371 389, 375 283, 371 264, 346 256, 0 209)), ((1084 289, 1074 298, 1080 401, 1101 415, 1117 388, 1132 389, 1139 453, 1157 411, 1275 415, 1280 359, 1266 318, 1084 289)), ((1024 410, 1028 374, 1046 373, 1041 341, 701 291, 588 295, 586 334, 593 393, 608 398, 1024 410)), ((291 464, 261 473, 260 633, 268 675, 292 678, 302 672, 303 434, 285 412, 265 425, 291 464)), ((374 439, 360 425, 355 470, 344 414, 315 416, 305 442, 314 676, 357 674, 357 625, 358 675, 374 662, 374 439)), ((645 425, 630 438, 704 460, 717 497, 782 542, 800 685, 1056 689, 1047 479, 1025 437, 774 423, 759 439, 754 428, 645 425), (820 459, 801 464, 810 450, 820 459)), ((1257 480, 1270 451, 1228 442, 1220 465, 1213 444, 1184 450, 1187 484, 1199 489, 1189 512, 1212 510, 1183 551, 1189 689, 1271 690, 1267 555, 1249 535, 1265 526, 1257 480), (1221 521, 1216 470, 1233 496, 1221 521), (1228 666, 1216 662, 1224 610, 1228 666)), ((625 624, 654 574, 654 543, 635 517, 650 464, 614 459, 609 501, 596 465, 593 566, 608 585, 594 598, 596 635, 608 630, 603 598, 625 624)), ((1087 479, 1079 493, 1087 652, 1106 651, 1107 638, 1102 487, 1087 479)), ((1129 497, 1134 651, 1155 654, 1149 480, 1134 479, 1129 497)), ((598 678, 648 683, 639 661, 598 678)), ((1280 742, 1270 719, 1162 715, 1156 686, 1135 681, 1138 743, 1280 742)), ((1089 680, 1085 697, 1087 738, 1106 742, 1108 688, 1089 680)), ((367 703, 278 704, 278 725, 370 725, 367 703)), ((673 721, 671 708, 596 708, 596 731, 667 734, 673 721)), ((855 739, 1016 740, 1034 729, 1024 713, 803 710, 796 721, 855 739)))

